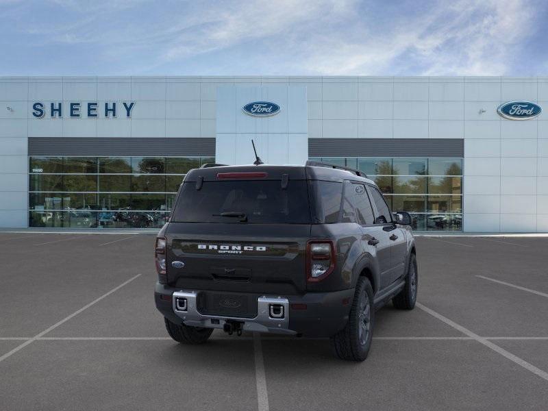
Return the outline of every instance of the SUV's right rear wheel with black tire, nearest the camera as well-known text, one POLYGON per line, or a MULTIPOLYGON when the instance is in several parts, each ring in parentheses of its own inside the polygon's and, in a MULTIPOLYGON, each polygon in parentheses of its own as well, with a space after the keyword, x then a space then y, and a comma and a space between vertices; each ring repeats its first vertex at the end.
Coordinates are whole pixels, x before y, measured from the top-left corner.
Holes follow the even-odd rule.
POLYGON ((374 320, 373 287, 369 279, 360 277, 356 284, 348 323, 344 329, 330 338, 334 356, 347 361, 365 360, 371 348, 374 320))

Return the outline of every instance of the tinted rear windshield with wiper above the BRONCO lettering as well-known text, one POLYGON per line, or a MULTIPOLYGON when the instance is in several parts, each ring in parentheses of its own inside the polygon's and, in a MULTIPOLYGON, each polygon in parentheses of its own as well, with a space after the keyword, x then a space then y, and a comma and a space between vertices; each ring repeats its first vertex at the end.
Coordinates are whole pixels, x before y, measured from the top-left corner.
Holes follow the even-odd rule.
POLYGON ((292 223, 309 224, 306 181, 290 180, 282 189, 279 180, 186 182, 175 204, 175 223, 292 223), (221 216, 225 213, 225 216, 221 216), (245 214, 227 216, 226 214, 245 214), (246 220, 243 222, 242 220, 246 220))

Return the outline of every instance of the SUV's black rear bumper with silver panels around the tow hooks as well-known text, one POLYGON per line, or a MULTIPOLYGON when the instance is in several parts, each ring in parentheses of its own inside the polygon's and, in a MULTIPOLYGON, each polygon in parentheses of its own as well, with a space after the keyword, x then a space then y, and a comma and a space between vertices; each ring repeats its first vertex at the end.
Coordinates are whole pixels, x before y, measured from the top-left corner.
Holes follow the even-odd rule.
POLYGON ((257 316, 249 319, 202 314, 196 306, 199 291, 181 290, 156 283, 156 308, 170 321, 192 327, 222 329, 229 320, 243 323, 242 328, 245 331, 325 337, 332 336, 345 327, 354 295, 353 288, 333 292, 307 292, 304 295, 264 295, 258 297, 257 316), (183 301, 186 302, 186 307, 183 301), (271 315, 273 305, 283 307, 283 317, 277 316, 277 307, 275 316, 271 315))

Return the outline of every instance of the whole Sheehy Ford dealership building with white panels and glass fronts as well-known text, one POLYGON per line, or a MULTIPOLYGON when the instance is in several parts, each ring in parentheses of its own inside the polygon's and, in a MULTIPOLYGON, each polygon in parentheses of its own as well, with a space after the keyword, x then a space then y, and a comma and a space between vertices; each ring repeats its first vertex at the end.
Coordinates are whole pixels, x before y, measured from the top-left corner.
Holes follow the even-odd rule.
POLYGON ((161 227, 202 164, 364 171, 425 232, 548 232, 548 77, 0 77, 0 227, 161 227))

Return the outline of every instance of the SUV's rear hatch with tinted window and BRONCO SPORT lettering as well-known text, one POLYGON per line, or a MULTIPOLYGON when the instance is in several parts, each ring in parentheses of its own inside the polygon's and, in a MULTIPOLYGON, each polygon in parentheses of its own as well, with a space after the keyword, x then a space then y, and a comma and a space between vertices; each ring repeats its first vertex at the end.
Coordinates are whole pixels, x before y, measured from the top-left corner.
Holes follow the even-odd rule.
MULTIPOLYGON (((208 291, 206 306, 218 306, 216 299, 230 292, 250 293, 251 301, 258 295, 305 292, 310 238, 305 169, 193 170, 179 189, 165 235, 168 283, 208 291), (173 261, 184 266, 175 268, 173 261)), ((246 301, 240 303, 245 311, 246 301)))

